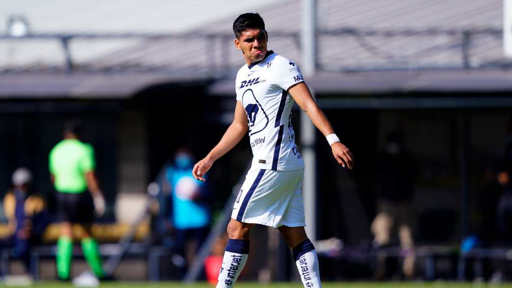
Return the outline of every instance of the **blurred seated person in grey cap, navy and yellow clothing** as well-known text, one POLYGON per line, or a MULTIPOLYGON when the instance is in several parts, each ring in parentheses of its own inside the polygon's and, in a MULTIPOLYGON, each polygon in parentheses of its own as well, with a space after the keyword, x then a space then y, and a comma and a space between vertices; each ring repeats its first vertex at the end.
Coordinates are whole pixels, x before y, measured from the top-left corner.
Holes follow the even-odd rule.
POLYGON ((3 241, 2 248, 12 248, 14 256, 23 260, 29 272, 31 248, 41 242, 48 225, 48 211, 44 198, 31 187, 30 170, 16 169, 12 174, 12 184, 12 190, 4 196, 10 236, 3 241))

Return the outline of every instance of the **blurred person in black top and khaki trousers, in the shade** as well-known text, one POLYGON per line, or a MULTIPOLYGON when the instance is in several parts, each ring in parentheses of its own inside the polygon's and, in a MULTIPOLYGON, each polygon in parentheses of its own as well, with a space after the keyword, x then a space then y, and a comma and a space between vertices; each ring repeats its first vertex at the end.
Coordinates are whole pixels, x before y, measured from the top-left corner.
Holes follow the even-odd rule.
MULTIPOLYGON (((373 220, 371 231, 377 247, 387 246, 391 242, 391 232, 398 228, 402 250, 403 275, 414 275, 414 241, 412 225, 414 218, 414 184, 418 178, 418 163, 412 154, 404 148, 400 132, 391 132, 387 136, 385 150, 377 159, 378 214, 373 220)), ((383 276, 383 259, 380 259, 376 276, 383 276)))

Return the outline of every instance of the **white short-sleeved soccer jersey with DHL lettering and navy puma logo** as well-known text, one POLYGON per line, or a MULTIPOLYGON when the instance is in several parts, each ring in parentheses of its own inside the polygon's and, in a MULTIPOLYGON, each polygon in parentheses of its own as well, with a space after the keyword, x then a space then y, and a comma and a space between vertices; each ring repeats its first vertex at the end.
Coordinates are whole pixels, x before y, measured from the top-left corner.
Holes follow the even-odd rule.
POLYGON ((247 113, 252 167, 276 171, 304 168, 295 145, 287 90, 304 78, 297 65, 268 51, 265 58, 244 65, 237 74, 237 100, 247 113))

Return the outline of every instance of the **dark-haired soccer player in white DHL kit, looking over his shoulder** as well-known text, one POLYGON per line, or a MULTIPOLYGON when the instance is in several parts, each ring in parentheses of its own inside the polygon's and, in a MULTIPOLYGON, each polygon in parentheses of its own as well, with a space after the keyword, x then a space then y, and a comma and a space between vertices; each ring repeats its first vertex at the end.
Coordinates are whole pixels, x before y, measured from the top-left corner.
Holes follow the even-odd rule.
POLYGON ((193 169, 194 177, 204 181, 211 165, 249 132, 253 160, 227 226, 229 240, 217 287, 236 282, 249 254, 250 231, 256 224, 279 229, 293 251, 304 286, 321 287, 315 248, 304 230, 304 162, 294 143, 293 102, 326 136, 340 165, 351 169, 352 153, 339 142, 316 105, 297 64, 267 50, 268 34, 261 16, 240 15, 234 20, 233 32, 234 45, 247 63, 237 74, 234 120, 220 142, 193 169))

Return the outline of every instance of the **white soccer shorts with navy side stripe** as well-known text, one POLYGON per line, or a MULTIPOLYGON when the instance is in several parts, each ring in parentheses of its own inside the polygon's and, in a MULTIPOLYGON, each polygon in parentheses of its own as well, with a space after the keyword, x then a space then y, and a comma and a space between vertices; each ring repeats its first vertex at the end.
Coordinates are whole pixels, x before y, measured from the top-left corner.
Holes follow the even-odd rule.
POLYGON ((273 228, 306 226, 302 201, 304 169, 251 168, 234 202, 231 218, 273 228))

